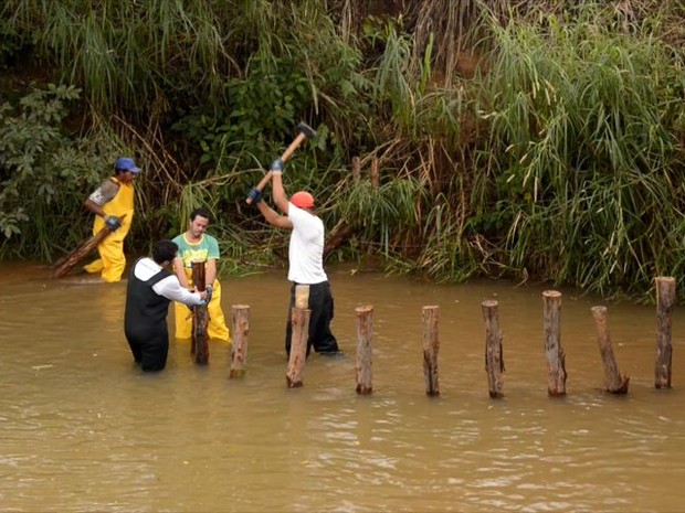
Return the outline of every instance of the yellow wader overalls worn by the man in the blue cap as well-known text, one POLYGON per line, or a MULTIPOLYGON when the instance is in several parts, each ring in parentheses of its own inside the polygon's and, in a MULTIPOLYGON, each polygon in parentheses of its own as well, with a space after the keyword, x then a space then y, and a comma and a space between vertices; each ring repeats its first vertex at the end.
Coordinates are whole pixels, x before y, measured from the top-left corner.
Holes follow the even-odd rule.
MULTIPOLYGON (((103 281, 114 282, 120 281, 124 268, 126 267, 126 256, 124 255, 124 238, 130 229, 130 223, 134 218, 134 186, 130 183, 122 183, 116 178, 110 178, 119 186, 119 191, 110 201, 105 203, 102 209, 106 215, 116 215, 126 217, 122 220, 122 226, 112 232, 105 239, 97 245, 99 258, 92 261, 84 269, 87 272, 102 271, 103 281)), ((93 223, 93 235, 97 234, 105 227, 105 220, 99 215, 95 216, 93 223)))

